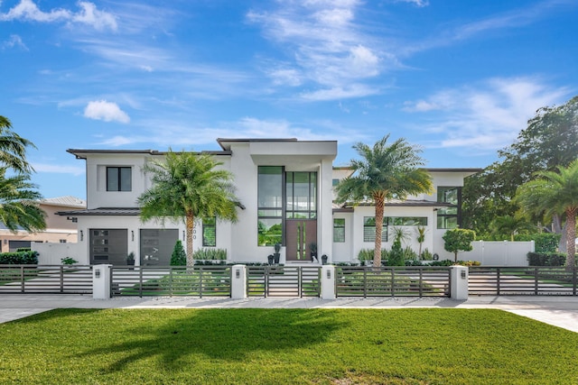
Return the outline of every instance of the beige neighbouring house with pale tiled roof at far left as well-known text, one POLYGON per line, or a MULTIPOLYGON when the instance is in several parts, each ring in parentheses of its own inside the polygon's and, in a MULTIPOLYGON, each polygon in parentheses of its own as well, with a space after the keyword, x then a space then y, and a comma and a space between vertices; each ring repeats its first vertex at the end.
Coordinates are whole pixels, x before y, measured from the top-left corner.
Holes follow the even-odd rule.
POLYGON ((78 197, 51 197, 41 199, 39 206, 46 213, 46 230, 37 233, 17 230, 13 233, 4 224, 0 224, 1 252, 15 252, 21 247, 31 247, 32 243, 77 242, 77 224, 56 213, 85 208, 87 204, 84 200, 78 197))

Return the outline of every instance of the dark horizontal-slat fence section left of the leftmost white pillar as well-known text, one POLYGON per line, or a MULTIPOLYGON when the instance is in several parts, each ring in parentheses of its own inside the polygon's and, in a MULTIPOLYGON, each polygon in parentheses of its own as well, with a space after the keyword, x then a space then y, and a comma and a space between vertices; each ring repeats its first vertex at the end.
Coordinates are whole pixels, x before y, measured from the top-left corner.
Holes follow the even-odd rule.
POLYGON ((0 265, 0 294, 92 294, 92 266, 0 265))

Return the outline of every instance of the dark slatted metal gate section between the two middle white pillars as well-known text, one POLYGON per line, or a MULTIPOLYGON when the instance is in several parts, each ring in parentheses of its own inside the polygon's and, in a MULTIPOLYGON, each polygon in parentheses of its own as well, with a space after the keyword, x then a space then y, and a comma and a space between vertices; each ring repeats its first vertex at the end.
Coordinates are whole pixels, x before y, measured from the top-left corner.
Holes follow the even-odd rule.
POLYGON ((320 297, 319 266, 247 266, 247 297, 320 297))

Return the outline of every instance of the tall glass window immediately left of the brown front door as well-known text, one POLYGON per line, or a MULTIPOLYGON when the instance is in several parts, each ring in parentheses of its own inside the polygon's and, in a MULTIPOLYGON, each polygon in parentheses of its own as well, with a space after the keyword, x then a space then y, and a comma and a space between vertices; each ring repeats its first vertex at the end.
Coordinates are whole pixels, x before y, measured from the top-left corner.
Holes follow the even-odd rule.
POLYGON ((259 246, 283 242, 283 167, 259 166, 257 234, 259 246))

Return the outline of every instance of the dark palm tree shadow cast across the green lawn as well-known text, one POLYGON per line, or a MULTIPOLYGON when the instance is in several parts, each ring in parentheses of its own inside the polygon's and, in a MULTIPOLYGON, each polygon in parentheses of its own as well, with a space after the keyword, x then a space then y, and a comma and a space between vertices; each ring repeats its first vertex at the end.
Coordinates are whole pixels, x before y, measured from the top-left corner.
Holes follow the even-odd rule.
MULTIPOLYGON (((159 357, 164 371, 203 358, 228 362, 254 359, 259 353, 275 360, 275 353, 321 344, 334 331, 347 327, 334 311, 319 309, 109 309, 136 315, 139 326, 122 327, 126 338, 102 338, 99 347, 75 354, 92 357, 115 353, 108 371, 122 371, 131 362, 159 357), (159 312, 163 311, 163 315, 159 312), (140 313, 140 314, 138 314, 140 313), (143 320, 150 321, 143 325, 143 320)), ((108 360, 109 361, 109 360, 108 360)))

